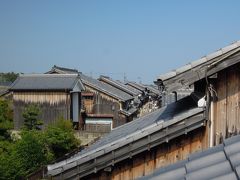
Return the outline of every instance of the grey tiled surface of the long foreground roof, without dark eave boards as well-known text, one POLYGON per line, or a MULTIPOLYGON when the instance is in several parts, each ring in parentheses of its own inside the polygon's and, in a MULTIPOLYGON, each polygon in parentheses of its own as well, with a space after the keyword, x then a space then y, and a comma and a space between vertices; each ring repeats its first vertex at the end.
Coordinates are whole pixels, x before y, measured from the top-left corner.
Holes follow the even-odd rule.
POLYGON ((136 137, 142 138, 142 134, 147 136, 149 133, 153 133, 151 132, 152 129, 156 129, 155 131, 161 131, 164 126, 169 126, 172 123, 184 120, 186 117, 192 117, 196 114, 202 113, 203 109, 196 106, 196 103, 191 96, 185 97, 175 103, 113 129, 95 144, 80 151, 78 154, 67 160, 49 165, 48 169, 51 171, 51 169, 59 168, 60 166, 64 166, 64 164, 73 161, 81 161, 83 163, 85 161, 84 157, 88 157, 88 160, 90 160, 90 157, 95 156, 100 150, 107 153, 115 148, 123 147, 127 142, 135 141, 136 137), (171 120, 171 118, 173 119, 171 120), (171 121, 174 122, 171 123, 171 121))

